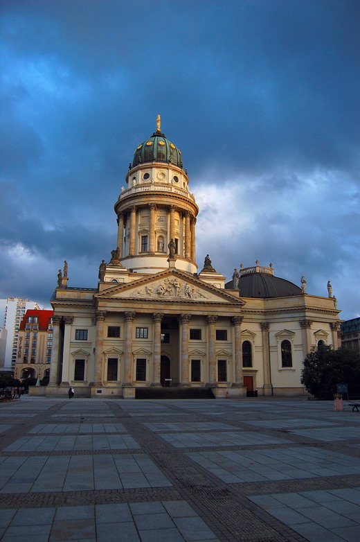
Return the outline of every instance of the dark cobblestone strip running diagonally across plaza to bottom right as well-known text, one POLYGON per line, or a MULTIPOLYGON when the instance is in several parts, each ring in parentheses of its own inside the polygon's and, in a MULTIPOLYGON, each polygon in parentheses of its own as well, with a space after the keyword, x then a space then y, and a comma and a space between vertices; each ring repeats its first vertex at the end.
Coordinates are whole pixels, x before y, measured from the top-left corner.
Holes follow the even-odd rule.
POLYGON ((172 481, 195 511, 206 521, 222 541, 229 542, 303 542, 305 539, 273 518, 260 507, 249 502, 229 487, 224 487, 215 476, 206 473, 198 465, 161 440, 138 421, 121 409, 109 404, 111 410, 126 426, 130 435, 141 444, 165 475, 172 481))

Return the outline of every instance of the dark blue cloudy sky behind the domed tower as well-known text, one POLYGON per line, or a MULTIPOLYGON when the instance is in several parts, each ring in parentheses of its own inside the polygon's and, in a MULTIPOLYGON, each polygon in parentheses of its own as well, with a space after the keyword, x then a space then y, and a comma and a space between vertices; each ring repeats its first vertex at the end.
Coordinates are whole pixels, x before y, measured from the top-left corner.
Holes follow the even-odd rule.
POLYGON ((114 203, 161 129, 197 264, 273 263, 360 315, 358 0, 2 0, 0 298, 96 288, 114 203))

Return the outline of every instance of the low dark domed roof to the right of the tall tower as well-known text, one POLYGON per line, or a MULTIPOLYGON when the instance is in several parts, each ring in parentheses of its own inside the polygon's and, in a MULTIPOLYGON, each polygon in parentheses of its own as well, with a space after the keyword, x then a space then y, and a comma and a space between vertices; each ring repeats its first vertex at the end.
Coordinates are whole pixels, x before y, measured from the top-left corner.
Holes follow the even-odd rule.
MULTIPOLYGON (((233 281, 227 282, 225 288, 233 288, 233 281)), ((267 273, 242 275, 239 289, 241 297, 287 297, 301 294, 301 288, 296 284, 267 273)))

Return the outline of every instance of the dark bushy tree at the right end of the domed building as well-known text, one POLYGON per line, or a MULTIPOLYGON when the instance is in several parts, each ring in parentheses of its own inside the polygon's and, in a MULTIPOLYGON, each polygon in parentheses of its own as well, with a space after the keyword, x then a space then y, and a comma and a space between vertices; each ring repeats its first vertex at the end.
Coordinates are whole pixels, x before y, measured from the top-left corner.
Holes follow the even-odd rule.
POLYGON ((353 350, 321 346, 309 352, 301 371, 301 383, 315 397, 336 393, 336 384, 348 384, 350 394, 360 393, 360 356, 353 350))

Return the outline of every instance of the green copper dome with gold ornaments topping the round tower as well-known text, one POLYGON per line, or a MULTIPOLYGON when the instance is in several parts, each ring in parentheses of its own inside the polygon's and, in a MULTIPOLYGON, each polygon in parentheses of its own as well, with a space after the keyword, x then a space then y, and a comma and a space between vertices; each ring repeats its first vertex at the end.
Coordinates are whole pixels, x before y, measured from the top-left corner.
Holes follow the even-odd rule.
POLYGON ((149 139, 138 146, 134 152, 132 167, 148 162, 164 162, 165 164, 174 164, 178 168, 183 167, 180 150, 159 130, 156 130, 149 139))

